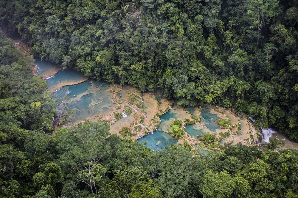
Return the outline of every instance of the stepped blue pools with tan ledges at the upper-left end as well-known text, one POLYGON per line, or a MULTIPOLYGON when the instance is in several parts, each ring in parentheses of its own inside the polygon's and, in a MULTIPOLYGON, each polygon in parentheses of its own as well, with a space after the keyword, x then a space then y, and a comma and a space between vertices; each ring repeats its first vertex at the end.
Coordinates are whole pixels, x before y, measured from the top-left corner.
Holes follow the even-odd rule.
POLYGON ((37 60, 36 65, 40 76, 49 75, 49 72, 53 71, 56 73, 46 78, 48 90, 53 92, 55 100, 63 100, 68 108, 73 110, 69 124, 103 114, 114 106, 113 95, 107 91, 109 89, 107 82, 86 81, 82 73, 71 69, 57 71, 54 64, 46 61, 37 60))

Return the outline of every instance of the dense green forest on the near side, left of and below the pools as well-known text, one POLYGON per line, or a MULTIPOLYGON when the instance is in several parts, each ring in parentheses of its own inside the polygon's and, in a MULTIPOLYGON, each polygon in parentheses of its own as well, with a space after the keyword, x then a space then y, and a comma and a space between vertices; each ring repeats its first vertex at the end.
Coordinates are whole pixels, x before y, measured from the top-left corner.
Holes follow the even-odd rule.
POLYGON ((274 151, 276 139, 263 151, 225 144, 194 155, 180 144, 154 153, 106 122, 47 134, 55 101, 46 82, 2 34, 0 52, 0 197, 298 197, 298 151, 274 151))

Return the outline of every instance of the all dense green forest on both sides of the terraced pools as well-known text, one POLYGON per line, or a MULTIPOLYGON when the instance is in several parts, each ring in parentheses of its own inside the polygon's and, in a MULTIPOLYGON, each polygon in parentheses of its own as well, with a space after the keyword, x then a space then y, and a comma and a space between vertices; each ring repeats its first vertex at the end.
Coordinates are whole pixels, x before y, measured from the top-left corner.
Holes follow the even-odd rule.
MULTIPOLYGON (((0 29, 110 83, 219 104, 298 141, 297 0, 0 0, 0 29)), ((55 101, 0 34, 0 197, 298 198, 298 151, 225 144, 154 153, 85 122, 52 134, 55 101)))

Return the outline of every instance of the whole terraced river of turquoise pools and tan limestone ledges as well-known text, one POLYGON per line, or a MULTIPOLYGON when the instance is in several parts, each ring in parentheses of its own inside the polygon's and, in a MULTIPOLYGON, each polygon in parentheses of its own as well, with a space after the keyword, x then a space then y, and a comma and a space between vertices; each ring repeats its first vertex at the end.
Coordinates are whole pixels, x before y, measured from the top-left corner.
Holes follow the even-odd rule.
MULTIPOLYGON (((143 100, 143 95, 139 96, 139 98, 136 97, 137 99, 135 99, 136 101, 139 100, 142 102, 142 108, 138 108, 131 104, 131 100, 126 100, 125 98, 131 98, 131 95, 133 95, 132 90, 134 88, 130 86, 122 87, 117 91, 115 97, 115 93, 111 91, 111 85, 107 82, 88 79, 76 70, 61 70, 61 68, 46 61, 37 60, 35 63, 38 65, 38 74, 47 81, 48 90, 52 92, 53 98, 63 101, 69 109, 73 110, 70 122, 65 125, 73 125, 87 119, 93 119, 92 121, 94 121, 97 120, 97 117, 108 117, 107 119, 110 119, 109 116, 113 116, 114 118, 114 112, 118 111, 119 114, 123 115, 123 118, 116 122, 115 120, 112 120, 110 123, 110 132, 117 133, 122 127, 129 127, 131 125, 133 126, 131 127, 132 129, 138 125, 142 126, 142 130, 147 130, 148 135, 143 136, 143 132, 139 132, 134 138, 137 139, 138 142, 147 142, 146 146, 148 148, 157 151, 162 150, 165 146, 179 143, 177 139, 166 132, 169 130, 173 120, 184 120, 185 117, 190 117, 190 115, 186 113, 186 110, 188 110, 196 117, 201 116, 201 121, 197 124, 185 126, 185 131, 187 131, 186 135, 189 135, 188 140, 194 145, 200 135, 204 133, 213 133, 215 136, 220 137, 218 134, 220 132, 224 133, 225 131, 219 128, 219 125, 216 124, 216 120, 221 118, 231 120, 231 124, 234 126, 237 123, 240 125, 239 132, 235 133, 235 130, 232 129, 232 131, 234 130, 234 133, 231 133, 232 135, 225 141, 222 141, 222 143, 230 141, 233 142, 233 144, 238 142, 253 144, 253 142, 257 141, 255 134, 253 134, 254 137, 251 139, 252 132, 254 132, 255 129, 247 120, 224 109, 215 111, 215 108, 212 106, 202 106, 202 108, 198 110, 198 107, 182 109, 181 107, 174 105, 172 109, 160 117, 160 124, 156 125, 156 130, 152 133, 153 131, 150 131, 151 129, 148 128, 148 125, 139 122, 138 118, 144 116, 145 122, 146 119, 147 122, 150 122, 151 117, 153 117, 156 113, 155 111, 157 111, 156 108, 153 111, 154 100, 150 101, 150 98, 148 97, 146 100, 143 100), (122 104, 123 102, 125 105, 130 106, 134 112, 127 115, 123 109, 123 106, 125 106, 122 104), (148 113, 144 114, 143 112, 146 111, 148 113), (248 133, 248 131, 250 132, 248 133)), ((157 100, 159 100, 161 105, 167 107, 167 104, 162 104, 161 98, 158 98, 157 100)), ((277 135, 281 136, 278 133, 277 135)), ((187 139, 187 136, 185 136, 184 139, 187 139)), ((285 137, 283 137, 283 139, 286 142, 285 147, 298 148, 296 145, 298 143, 288 141, 285 137)))

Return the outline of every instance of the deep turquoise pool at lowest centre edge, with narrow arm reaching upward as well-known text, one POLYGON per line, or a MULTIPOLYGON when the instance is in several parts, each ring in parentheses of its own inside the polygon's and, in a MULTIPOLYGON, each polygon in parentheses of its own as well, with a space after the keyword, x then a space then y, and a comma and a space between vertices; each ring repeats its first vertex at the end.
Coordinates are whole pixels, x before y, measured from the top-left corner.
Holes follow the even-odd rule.
POLYGON ((156 131, 151 134, 139 138, 138 142, 147 142, 146 147, 152 149, 154 152, 157 150, 162 150, 163 147, 170 146, 171 144, 177 144, 178 140, 170 136, 168 133, 162 131, 163 126, 169 121, 171 118, 176 118, 175 113, 169 110, 167 113, 163 114, 160 117, 161 124, 156 129, 156 131))

